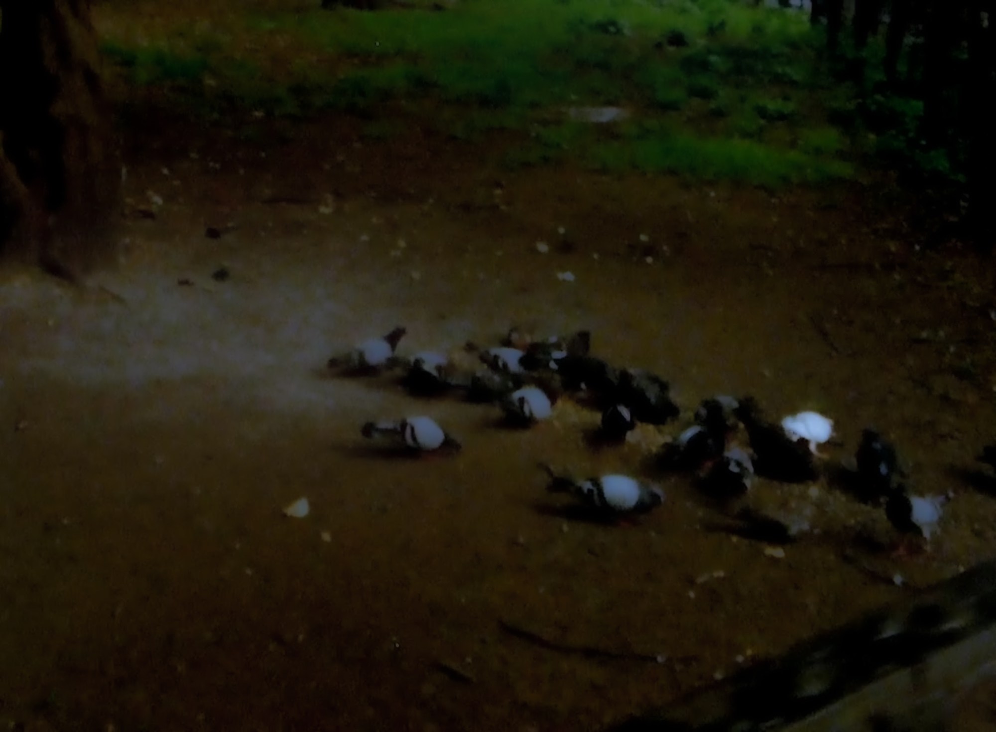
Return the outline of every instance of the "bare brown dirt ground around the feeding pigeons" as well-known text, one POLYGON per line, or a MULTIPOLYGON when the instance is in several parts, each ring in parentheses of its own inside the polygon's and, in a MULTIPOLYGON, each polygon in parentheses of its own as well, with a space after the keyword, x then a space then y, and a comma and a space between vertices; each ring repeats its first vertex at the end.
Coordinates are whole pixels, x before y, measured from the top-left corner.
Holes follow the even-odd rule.
POLYGON ((120 267, 83 289, 3 271, 10 729, 595 730, 992 553, 972 471, 996 438, 993 267, 919 248, 881 188, 509 173, 359 130, 128 129, 120 267), (590 328, 597 354, 671 380, 682 421, 596 451, 598 415, 571 402, 513 431, 324 369, 396 324, 412 352, 513 323, 590 328), (784 557, 710 531, 684 477, 658 476, 666 502, 635 527, 543 490, 540 460, 652 475, 717 392, 836 422, 827 477, 753 494, 814 528, 784 557), (360 436, 417 413, 462 453, 360 436), (835 479, 867 425, 916 491, 955 493, 926 556, 868 549, 884 516, 835 479), (300 497, 311 514, 282 516, 300 497))

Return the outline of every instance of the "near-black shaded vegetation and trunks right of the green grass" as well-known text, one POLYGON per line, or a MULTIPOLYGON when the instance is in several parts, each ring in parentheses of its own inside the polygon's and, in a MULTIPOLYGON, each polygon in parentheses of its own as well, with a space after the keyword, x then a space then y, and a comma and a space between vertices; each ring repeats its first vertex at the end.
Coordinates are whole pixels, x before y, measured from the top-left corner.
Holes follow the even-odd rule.
MULTIPOLYGON (((985 0, 858 0, 845 33, 840 0, 814 4, 834 78, 876 136, 882 164, 940 196, 941 227, 991 251, 996 233, 996 10, 985 0), (880 40, 879 40, 880 39, 880 40), (942 212, 943 211, 943 212, 942 212)), ((840 120, 847 124, 847 117, 840 120)))

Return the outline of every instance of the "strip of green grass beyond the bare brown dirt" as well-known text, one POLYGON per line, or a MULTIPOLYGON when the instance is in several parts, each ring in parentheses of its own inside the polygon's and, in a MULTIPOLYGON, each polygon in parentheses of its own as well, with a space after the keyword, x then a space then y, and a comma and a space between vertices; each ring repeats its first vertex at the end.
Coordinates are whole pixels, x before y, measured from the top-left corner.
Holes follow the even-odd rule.
POLYGON ((830 122, 848 99, 818 72, 805 17, 732 0, 459 0, 376 12, 250 5, 223 21, 130 32, 99 17, 127 88, 192 113, 334 110, 383 139, 404 114, 458 140, 518 135, 514 167, 572 160, 777 185, 852 175, 830 122), (403 113, 399 112, 403 103, 403 113), (572 107, 629 121, 572 123, 572 107))

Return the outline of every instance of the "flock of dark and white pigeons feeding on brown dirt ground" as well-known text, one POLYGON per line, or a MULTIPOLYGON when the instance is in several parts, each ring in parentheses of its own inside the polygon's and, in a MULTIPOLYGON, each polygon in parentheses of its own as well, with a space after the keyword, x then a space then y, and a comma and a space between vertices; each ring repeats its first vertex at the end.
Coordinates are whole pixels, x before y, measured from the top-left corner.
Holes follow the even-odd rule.
MULTIPOLYGON (((637 423, 662 425, 679 415, 668 383, 642 369, 618 368, 591 355, 591 334, 534 339, 513 328, 494 348, 468 343, 464 352, 476 356, 471 366, 435 352, 397 355, 405 335, 397 327, 380 338, 358 344, 329 367, 340 373, 403 370, 406 388, 418 395, 462 390, 475 402, 497 403, 511 424, 523 428, 549 419, 564 394, 602 411, 598 439, 621 442, 637 423)), ((716 396, 704 400, 694 424, 662 448, 663 470, 688 471, 707 496, 737 502, 750 491, 755 476, 784 483, 807 483, 819 477, 819 446, 833 436, 832 420, 816 412, 801 412, 781 423, 767 421, 752 397, 716 396), (741 445, 740 434, 746 433, 741 445)), ((425 416, 368 422, 367 438, 386 437, 412 452, 458 451, 460 443, 425 416)), ((985 448, 980 461, 996 469, 996 446, 985 448)), ((885 516, 901 535, 897 552, 910 539, 926 540, 936 531, 946 496, 911 495, 894 447, 866 429, 855 455, 855 488, 867 502, 884 504, 885 516)), ((551 492, 572 494, 603 517, 615 520, 644 513, 663 502, 661 489, 625 475, 577 480, 542 466, 551 492)))

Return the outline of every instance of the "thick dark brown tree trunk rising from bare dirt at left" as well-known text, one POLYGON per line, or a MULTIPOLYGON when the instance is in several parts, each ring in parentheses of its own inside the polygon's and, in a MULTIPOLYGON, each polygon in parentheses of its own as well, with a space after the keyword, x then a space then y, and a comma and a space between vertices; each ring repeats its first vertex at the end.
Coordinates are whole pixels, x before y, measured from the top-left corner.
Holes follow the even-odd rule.
POLYGON ((90 0, 0 11, 0 249, 78 272, 114 254, 121 187, 90 0))

